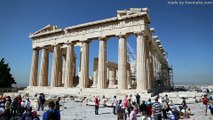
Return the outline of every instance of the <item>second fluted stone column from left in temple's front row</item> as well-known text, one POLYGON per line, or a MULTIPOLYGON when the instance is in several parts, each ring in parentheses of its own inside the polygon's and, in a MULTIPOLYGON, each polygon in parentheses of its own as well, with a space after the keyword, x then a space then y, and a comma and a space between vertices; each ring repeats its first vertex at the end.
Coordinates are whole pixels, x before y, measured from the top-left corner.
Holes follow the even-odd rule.
POLYGON ((46 48, 42 48, 39 86, 48 85, 48 62, 49 52, 46 48))

